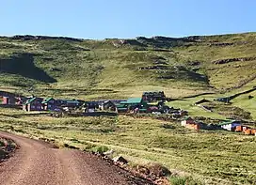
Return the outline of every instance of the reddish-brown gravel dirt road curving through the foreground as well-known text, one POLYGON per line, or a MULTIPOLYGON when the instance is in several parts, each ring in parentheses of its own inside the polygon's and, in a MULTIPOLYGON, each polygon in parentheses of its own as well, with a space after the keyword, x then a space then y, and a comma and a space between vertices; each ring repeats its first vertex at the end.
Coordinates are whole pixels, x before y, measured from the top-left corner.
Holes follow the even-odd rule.
POLYGON ((1 185, 126 185, 152 184, 79 150, 58 149, 41 141, 0 131, 19 146, 0 163, 1 185))

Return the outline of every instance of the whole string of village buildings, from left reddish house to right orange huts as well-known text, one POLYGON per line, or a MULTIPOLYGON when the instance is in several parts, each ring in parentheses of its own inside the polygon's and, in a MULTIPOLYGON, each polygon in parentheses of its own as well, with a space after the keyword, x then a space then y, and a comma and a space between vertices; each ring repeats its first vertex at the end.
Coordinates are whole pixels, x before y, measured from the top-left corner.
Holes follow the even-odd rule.
MULTIPOLYGON (((38 97, 14 96, 11 93, 0 91, 0 104, 15 105, 22 107, 24 111, 52 111, 68 112, 80 110, 81 113, 94 113, 98 111, 116 112, 118 114, 168 114, 172 119, 183 118, 181 125, 193 130, 227 130, 244 132, 247 135, 256 135, 256 129, 242 125, 241 121, 226 120, 219 124, 204 124, 187 116, 188 113, 181 109, 168 107, 165 104, 167 98, 163 91, 144 92, 140 98, 131 98, 128 100, 62 100, 38 97)), ((200 104, 205 100, 200 100, 200 104)))

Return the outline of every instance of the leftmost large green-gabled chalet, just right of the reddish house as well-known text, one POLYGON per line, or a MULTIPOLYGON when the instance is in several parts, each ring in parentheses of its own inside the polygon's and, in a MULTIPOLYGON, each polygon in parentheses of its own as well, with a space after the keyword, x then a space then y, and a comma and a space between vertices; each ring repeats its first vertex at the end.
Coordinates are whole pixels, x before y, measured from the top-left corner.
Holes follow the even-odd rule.
POLYGON ((40 98, 30 98, 26 100, 23 104, 24 111, 43 111, 42 99, 40 98))

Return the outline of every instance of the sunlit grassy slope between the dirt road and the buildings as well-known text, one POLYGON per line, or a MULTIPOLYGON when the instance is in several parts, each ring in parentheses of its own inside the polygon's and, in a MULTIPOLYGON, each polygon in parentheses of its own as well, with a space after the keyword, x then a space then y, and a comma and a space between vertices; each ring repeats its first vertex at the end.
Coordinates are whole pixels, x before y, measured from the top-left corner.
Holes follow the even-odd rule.
POLYGON ((87 150, 107 146, 132 163, 160 162, 174 174, 205 184, 255 183, 255 137, 240 133, 197 132, 150 118, 55 118, 3 108, 0 128, 53 139, 60 146, 87 150), (173 128, 166 129, 164 124, 173 128))

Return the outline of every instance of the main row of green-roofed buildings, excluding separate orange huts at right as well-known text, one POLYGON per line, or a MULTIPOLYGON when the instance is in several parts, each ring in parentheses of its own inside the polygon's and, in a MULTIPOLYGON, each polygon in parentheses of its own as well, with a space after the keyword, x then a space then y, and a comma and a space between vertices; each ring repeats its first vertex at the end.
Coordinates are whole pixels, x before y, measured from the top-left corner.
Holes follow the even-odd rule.
POLYGON ((186 112, 179 109, 169 108, 165 101, 166 95, 163 91, 144 92, 140 98, 128 100, 60 100, 54 98, 39 97, 15 97, 12 95, 0 97, 1 104, 15 104, 23 107, 24 111, 70 111, 81 109, 87 113, 96 110, 122 113, 151 113, 151 114, 176 114, 182 116, 186 112))

